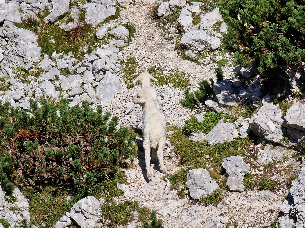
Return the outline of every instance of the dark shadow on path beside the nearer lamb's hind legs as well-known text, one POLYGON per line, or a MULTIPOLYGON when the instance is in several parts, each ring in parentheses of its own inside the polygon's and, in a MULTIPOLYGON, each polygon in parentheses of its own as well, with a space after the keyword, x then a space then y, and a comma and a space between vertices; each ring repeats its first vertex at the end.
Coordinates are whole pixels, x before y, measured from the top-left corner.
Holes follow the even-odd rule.
MULTIPOLYGON (((146 180, 146 182, 148 183, 149 180, 147 178, 147 171, 146 171, 146 164, 145 164, 145 151, 144 151, 144 147, 143 147, 143 136, 141 135, 141 139, 136 139, 135 143, 137 143, 138 145, 138 161, 139 161, 139 166, 142 170, 142 175, 144 177, 144 179, 146 180)), ((162 173, 161 169, 160 169, 160 165, 159 165, 159 161, 153 162, 152 161, 152 151, 150 150, 150 164, 154 164, 154 169, 157 172, 162 173)))

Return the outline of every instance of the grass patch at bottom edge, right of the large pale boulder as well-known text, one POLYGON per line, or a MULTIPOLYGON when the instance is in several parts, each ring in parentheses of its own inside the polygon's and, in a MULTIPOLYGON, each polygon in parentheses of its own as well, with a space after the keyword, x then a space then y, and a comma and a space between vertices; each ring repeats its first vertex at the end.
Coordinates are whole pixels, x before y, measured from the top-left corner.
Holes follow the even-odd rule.
POLYGON ((134 221, 144 224, 150 219, 150 212, 147 208, 139 206, 138 202, 127 200, 121 203, 113 201, 106 202, 102 206, 103 223, 107 223, 107 227, 116 228, 119 225, 127 225, 134 221), (135 216, 137 212, 138 216, 135 216))

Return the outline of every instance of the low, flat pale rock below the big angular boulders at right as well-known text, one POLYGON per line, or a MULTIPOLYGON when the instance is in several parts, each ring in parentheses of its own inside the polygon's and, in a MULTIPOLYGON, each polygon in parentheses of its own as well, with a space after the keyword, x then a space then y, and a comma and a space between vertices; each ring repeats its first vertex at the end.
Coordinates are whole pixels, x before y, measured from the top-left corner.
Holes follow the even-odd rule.
POLYGON ((283 161, 286 157, 291 157, 296 151, 292 149, 286 149, 285 147, 275 147, 268 143, 264 149, 259 150, 259 157, 257 159, 258 164, 267 165, 277 161, 283 161))

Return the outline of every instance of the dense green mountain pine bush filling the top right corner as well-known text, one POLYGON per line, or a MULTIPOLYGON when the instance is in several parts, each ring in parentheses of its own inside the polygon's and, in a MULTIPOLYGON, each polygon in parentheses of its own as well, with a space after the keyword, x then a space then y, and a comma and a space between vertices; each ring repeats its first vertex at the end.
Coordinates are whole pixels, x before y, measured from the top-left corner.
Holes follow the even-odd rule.
POLYGON ((234 63, 271 78, 305 61, 305 12, 300 0, 223 0, 223 44, 234 63))

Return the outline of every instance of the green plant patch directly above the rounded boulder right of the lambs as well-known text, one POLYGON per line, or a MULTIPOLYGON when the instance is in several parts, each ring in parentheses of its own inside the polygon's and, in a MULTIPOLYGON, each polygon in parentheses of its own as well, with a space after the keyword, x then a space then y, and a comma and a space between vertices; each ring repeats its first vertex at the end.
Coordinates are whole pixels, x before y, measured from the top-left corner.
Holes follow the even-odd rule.
POLYGON ((213 127, 219 122, 220 119, 224 119, 226 122, 227 119, 230 119, 231 123, 236 121, 236 116, 228 115, 224 112, 206 112, 204 115, 205 119, 202 122, 198 122, 196 117, 191 117, 188 121, 185 122, 183 126, 183 130, 191 133, 196 132, 199 133, 202 131, 203 133, 209 133, 213 127))

